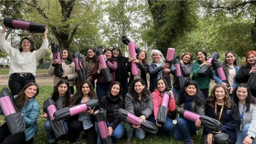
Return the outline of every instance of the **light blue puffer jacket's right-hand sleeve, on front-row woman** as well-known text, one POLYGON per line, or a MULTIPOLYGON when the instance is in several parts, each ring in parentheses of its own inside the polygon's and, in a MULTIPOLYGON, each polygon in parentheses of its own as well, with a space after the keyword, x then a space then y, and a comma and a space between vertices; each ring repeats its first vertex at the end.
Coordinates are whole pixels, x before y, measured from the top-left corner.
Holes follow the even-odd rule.
POLYGON ((36 105, 36 106, 33 106, 31 111, 29 112, 28 117, 26 117, 24 115, 24 120, 25 120, 26 127, 29 127, 32 124, 34 124, 34 122, 36 122, 37 117, 39 115, 39 111, 40 111, 40 107, 39 107, 39 105, 36 105))

